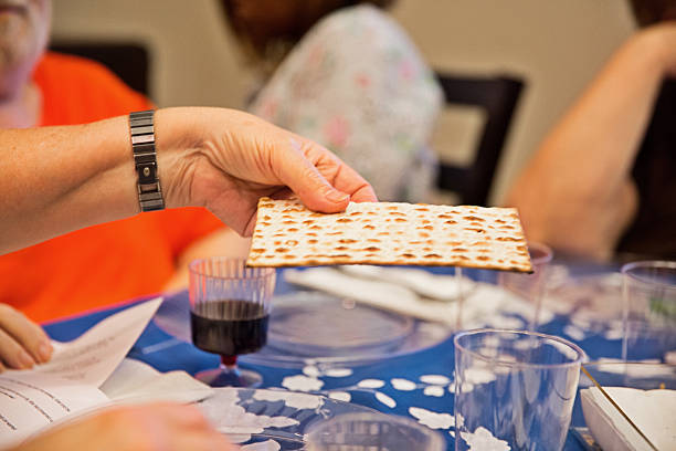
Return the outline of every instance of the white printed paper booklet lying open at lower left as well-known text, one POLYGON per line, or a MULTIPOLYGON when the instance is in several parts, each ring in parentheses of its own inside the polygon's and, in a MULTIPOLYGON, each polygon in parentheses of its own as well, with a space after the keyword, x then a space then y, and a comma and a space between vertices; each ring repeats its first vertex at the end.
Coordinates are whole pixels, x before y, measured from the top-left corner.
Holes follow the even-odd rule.
POLYGON ((113 403, 209 397, 211 388, 184 371, 160 374, 125 359, 161 301, 108 316, 72 342, 52 342, 47 364, 0 374, 0 449, 113 403))

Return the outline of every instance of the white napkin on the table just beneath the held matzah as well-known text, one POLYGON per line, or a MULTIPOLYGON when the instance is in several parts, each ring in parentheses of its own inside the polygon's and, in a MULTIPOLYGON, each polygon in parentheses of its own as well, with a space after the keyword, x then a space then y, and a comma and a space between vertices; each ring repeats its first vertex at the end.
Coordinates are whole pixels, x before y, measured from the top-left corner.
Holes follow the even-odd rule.
MULTIPOLYGON (((359 270, 358 270, 359 271, 359 270)), ((366 271, 371 271, 367 269, 366 271)), ((377 270, 379 271, 379 270, 377 270)), ((373 271, 372 274, 377 273, 373 271)), ((399 282, 409 277, 418 277, 421 270, 385 269, 379 272, 378 280, 373 277, 356 277, 353 270, 338 270, 329 266, 310 268, 307 270, 285 270, 284 279, 293 284, 302 285, 313 290, 324 291, 336 296, 352 298, 368 305, 382 310, 389 310, 403 315, 410 315, 420 319, 444 323, 451 327, 457 325, 460 303, 457 301, 432 301, 416 294, 413 290, 402 286, 399 282), (397 277, 384 281, 388 271, 397 271, 397 277), (413 276, 402 276, 404 272, 411 271, 413 276), (348 272, 350 274, 348 274, 348 272)), ((429 285, 426 292, 445 293, 451 285, 448 279, 454 276, 435 275, 426 273, 425 283, 429 285)), ((422 280, 422 279, 420 279, 422 280)), ((457 282, 455 282, 457 283, 457 282)), ((462 282, 464 283, 464 282, 462 282)), ((472 282, 472 290, 466 293, 462 307, 462 327, 473 328, 490 325, 494 327, 522 328, 524 322, 505 316, 504 313, 517 313, 525 318, 534 314, 532 306, 525 303, 518 296, 499 289, 496 285, 472 282)), ((457 285, 455 285, 455 290, 457 285)), ((453 287, 451 289, 453 290, 453 287)), ((457 292, 457 291, 456 291, 457 292)))

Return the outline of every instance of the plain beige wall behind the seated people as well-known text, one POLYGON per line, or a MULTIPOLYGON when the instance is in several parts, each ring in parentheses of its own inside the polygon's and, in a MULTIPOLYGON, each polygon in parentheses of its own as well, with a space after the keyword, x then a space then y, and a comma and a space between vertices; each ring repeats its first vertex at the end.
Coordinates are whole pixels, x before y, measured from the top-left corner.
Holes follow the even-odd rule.
MULTIPOLYGON (((159 106, 241 107, 253 85, 215 1, 53 3, 56 39, 147 43, 154 57, 151 96, 159 106)), ((493 202, 499 202, 549 127, 633 30, 624 0, 399 0, 392 14, 435 69, 507 72, 527 80, 493 202)), ((435 148, 445 158, 467 158, 480 119, 472 111, 446 114, 435 148)))

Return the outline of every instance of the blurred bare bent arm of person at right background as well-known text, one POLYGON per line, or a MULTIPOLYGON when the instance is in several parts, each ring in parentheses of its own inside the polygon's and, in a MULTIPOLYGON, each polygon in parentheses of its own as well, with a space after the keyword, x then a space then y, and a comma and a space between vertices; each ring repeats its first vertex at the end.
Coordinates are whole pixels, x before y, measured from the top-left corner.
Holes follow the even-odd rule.
POLYGON ((530 240, 612 255, 636 212, 631 169, 675 49, 674 22, 636 33, 546 137, 507 196, 530 240))

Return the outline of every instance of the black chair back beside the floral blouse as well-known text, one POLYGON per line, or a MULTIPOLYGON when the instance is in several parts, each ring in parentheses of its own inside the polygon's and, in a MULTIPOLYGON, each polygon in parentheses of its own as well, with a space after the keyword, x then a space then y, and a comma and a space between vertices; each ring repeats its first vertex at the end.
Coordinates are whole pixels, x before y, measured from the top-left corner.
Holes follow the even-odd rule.
POLYGON ((447 73, 437 73, 436 76, 446 105, 473 105, 486 112, 473 162, 458 167, 442 161, 436 187, 456 192, 461 203, 486 206, 524 82, 510 76, 475 77, 447 73))

